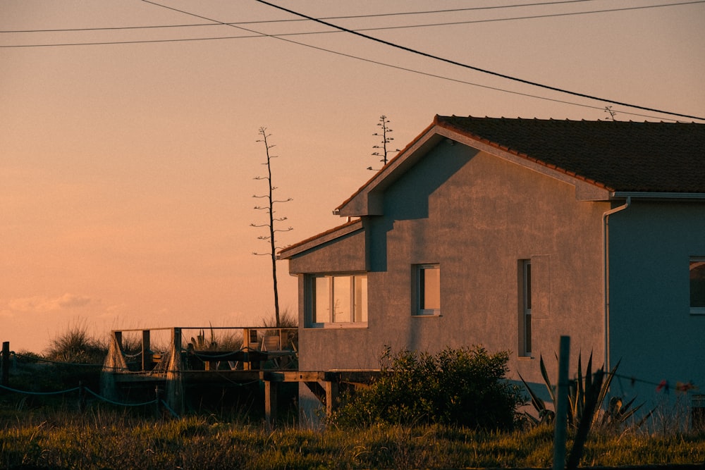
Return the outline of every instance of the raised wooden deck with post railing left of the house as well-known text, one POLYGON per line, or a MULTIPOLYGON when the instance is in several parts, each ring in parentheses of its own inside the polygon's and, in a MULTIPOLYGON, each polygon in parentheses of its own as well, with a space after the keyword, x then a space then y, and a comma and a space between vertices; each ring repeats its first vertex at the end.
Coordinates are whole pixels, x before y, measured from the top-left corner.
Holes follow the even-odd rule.
MULTIPOLYGON (((231 328, 242 331, 242 346, 237 350, 219 349, 215 342, 209 349, 198 350, 193 347, 194 338, 184 345, 186 329, 169 328, 171 347, 161 353, 151 350, 155 330, 113 331, 104 374, 110 376, 116 392, 129 388, 161 388, 168 407, 183 413, 186 388, 264 383, 264 416, 266 425, 271 428, 276 422, 278 389, 282 383, 305 383, 325 404, 326 414, 330 416, 342 390, 367 385, 379 376, 379 370, 299 371, 295 328, 231 328), (123 349, 125 333, 137 333, 141 338, 139 352, 130 354, 123 349)), ((202 339, 202 335, 199 338, 202 339)))

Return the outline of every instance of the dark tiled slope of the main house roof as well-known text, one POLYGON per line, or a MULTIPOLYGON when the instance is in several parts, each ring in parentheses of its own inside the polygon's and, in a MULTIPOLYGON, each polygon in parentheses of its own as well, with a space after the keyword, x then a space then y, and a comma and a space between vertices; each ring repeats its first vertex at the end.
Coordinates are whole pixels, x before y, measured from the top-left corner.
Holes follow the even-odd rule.
POLYGON ((458 116, 434 124, 609 190, 705 193, 705 124, 458 116))

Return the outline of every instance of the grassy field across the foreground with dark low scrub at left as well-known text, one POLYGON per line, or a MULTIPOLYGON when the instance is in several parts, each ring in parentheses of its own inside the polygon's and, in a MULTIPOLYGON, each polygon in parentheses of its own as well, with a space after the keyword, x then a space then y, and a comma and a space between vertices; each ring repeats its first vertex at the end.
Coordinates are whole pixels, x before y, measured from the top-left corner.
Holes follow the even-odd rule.
MULTIPOLYGON (((27 361, 12 371, 11 384, 20 390, 62 390, 80 380, 92 388, 98 376, 95 368, 27 361)), ((204 400, 204 406, 173 416, 154 405, 121 407, 86 397, 80 389, 63 395, 0 389, 0 468, 546 469, 552 465, 553 428, 545 424, 532 426, 527 421, 503 432, 439 423, 329 423, 305 428, 289 409, 280 414, 277 428, 268 431, 262 408, 256 398, 252 400, 252 395, 239 401, 223 396, 219 404, 204 400), (225 407, 225 402, 238 405, 225 407)), ((659 409, 643 426, 595 428, 580 466, 705 468, 705 432, 685 430, 682 416, 678 409, 659 409)), ((575 430, 569 431, 568 450, 574 436, 575 430)))

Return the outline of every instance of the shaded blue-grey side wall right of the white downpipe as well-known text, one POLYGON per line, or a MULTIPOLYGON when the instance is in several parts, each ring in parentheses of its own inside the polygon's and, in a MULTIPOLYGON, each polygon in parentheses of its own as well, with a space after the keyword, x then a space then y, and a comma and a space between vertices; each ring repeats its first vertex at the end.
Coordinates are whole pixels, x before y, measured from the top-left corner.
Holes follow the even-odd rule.
MULTIPOLYGON (((617 385, 660 402, 661 381, 705 385, 705 316, 689 313, 689 257, 705 256, 705 202, 644 202, 609 220, 609 344, 617 385), (633 381, 631 378, 634 378, 633 381)), ((681 395, 685 397, 685 395, 681 395)))

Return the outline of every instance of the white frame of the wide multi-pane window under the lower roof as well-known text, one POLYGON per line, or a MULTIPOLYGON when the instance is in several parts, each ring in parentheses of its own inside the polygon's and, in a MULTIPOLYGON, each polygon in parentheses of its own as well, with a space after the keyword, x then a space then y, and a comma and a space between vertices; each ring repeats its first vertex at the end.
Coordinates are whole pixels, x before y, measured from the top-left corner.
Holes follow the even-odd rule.
MULTIPOLYGON (((307 327, 309 328, 366 328, 367 327, 367 314, 368 314, 368 307, 369 304, 367 302, 367 273, 329 273, 329 274, 314 274, 309 276, 309 285, 308 285, 308 295, 307 295, 307 312, 308 312, 308 320, 307 321, 307 327), (345 295, 346 299, 348 299, 348 302, 350 304, 348 305, 348 318, 345 320, 341 320, 340 318, 336 319, 336 295, 335 295, 335 285, 336 285, 336 279, 343 279, 343 278, 348 278, 350 283, 349 283, 349 292, 347 292, 345 295), (319 280, 325 280, 325 285, 326 285, 326 293, 328 297, 328 308, 327 308, 327 314, 324 314, 324 316, 327 316, 325 319, 326 321, 319 321, 321 318, 320 316, 317 316, 317 307, 318 305, 318 299, 319 295, 321 294, 318 292, 319 295, 317 295, 316 289, 317 285, 320 287, 319 280), (360 288, 360 297, 359 300, 362 302, 361 305, 356 306, 355 302, 358 300, 357 294, 357 288, 360 288), (359 309, 356 310, 356 307, 359 307, 359 309)), ((320 297, 325 297, 325 295, 322 295, 320 297)), ((337 299, 340 300, 340 299, 337 299)))

